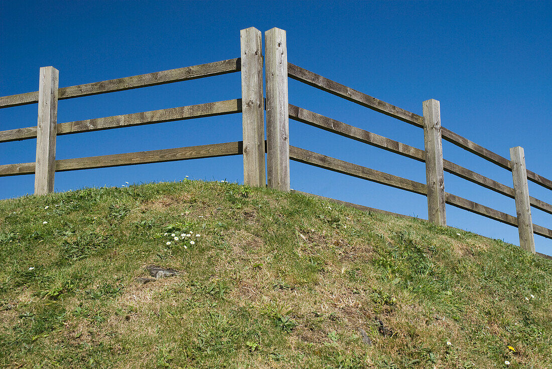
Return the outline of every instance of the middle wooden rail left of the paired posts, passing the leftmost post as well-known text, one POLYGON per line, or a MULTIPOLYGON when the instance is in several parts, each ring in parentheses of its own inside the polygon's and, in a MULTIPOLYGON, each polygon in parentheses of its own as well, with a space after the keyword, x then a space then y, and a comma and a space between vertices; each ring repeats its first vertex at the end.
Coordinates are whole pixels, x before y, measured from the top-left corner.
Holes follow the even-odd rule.
MULTIPOLYGON (((233 99, 217 101, 215 103, 179 106, 178 108, 144 111, 142 113, 79 120, 57 124, 57 135, 70 135, 71 133, 93 132, 120 127, 241 113, 241 109, 241 99, 233 99)), ((36 138, 36 126, 0 131, 0 142, 28 140, 29 138, 36 138)))

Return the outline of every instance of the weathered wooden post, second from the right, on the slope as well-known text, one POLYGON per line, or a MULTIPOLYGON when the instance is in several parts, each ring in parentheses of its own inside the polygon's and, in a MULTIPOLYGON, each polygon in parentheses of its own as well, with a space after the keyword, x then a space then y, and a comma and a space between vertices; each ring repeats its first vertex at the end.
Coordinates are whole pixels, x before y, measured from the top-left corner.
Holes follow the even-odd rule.
POLYGON ((447 225, 443 174, 443 144, 439 101, 423 101, 423 141, 426 148, 426 180, 428 220, 447 225))

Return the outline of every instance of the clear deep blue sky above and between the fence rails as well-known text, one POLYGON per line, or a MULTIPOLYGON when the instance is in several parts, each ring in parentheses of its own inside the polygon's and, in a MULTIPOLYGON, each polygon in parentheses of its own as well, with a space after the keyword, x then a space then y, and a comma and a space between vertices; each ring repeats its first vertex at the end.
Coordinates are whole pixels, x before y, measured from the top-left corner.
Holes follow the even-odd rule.
MULTIPOLYGON (((437 99, 442 124, 552 178, 552 2, 1 2, 0 95, 38 89, 39 67, 60 71, 60 87, 240 56, 240 29, 287 31, 288 60, 422 114, 437 99)), ((421 129, 289 81, 290 103, 423 149, 421 129)), ((58 122, 241 97, 238 73, 59 102, 58 122)), ((36 105, 0 110, 0 130, 36 125, 36 105)), ((210 117, 57 139, 57 158, 241 140, 241 115, 210 117)), ((423 163, 290 121, 290 143, 412 180, 423 163)), ((35 140, 0 144, 0 164, 34 162, 35 140)), ((443 143, 445 158, 512 185, 511 173, 443 143)), ((241 157, 56 174, 56 191, 125 181, 190 178, 241 182, 241 157)), ((33 192, 32 175, 0 178, 0 198, 33 192)), ((305 164, 291 163, 291 187, 427 218, 426 198, 305 164)), ((445 189, 515 215, 512 199, 445 174, 445 189)), ((552 191, 529 183, 552 203, 552 191)), ((447 206, 452 226, 519 244, 517 229, 447 206)), ((552 216, 533 210, 534 223, 552 216)), ((535 236, 552 254, 552 240, 535 236)))

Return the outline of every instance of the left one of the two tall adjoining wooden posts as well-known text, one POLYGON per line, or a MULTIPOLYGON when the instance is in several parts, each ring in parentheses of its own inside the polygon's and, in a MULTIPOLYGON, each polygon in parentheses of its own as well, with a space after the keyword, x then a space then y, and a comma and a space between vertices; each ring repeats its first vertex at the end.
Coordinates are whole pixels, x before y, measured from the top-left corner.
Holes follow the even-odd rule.
POLYGON ((263 46, 261 31, 251 27, 240 31, 243 183, 266 185, 264 172, 263 46))

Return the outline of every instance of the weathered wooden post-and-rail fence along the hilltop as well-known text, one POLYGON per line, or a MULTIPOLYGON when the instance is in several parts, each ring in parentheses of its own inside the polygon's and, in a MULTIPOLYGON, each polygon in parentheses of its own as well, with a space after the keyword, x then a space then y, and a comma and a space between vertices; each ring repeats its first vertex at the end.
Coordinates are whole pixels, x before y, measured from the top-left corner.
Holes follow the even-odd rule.
MULTIPOLYGON (((263 58, 261 36, 261 31, 255 28, 241 30, 241 55, 239 58, 71 87, 58 88, 57 69, 53 67, 40 68, 37 92, 0 97, 0 109, 38 103, 38 124, 36 126, 0 131, 0 142, 36 138, 36 161, 34 163, 0 165, 0 177, 35 174, 35 194, 40 195, 54 190, 55 172, 242 155, 245 184, 265 186, 268 183, 270 188, 290 191, 289 162, 293 160, 427 196, 428 220, 440 226, 447 225, 446 204, 448 204, 518 227, 521 247, 528 252, 535 253, 533 234, 552 239, 552 230, 533 224, 531 218, 531 207, 552 214, 552 205, 529 196, 527 184, 527 181, 530 180, 552 190, 552 181, 526 169, 523 148, 511 148, 511 157, 507 159, 442 127, 440 106, 437 100, 424 101, 422 104, 423 116, 420 116, 288 63, 284 30, 273 28, 266 31, 263 58), (263 62, 266 94, 263 94, 263 62), (234 72, 241 72, 241 99, 57 123, 57 100, 59 99, 85 97, 234 72), (424 150, 289 104, 288 78, 420 127, 423 129, 424 150), (266 97, 266 100, 263 97, 266 97), (264 110, 266 110, 267 116, 266 141, 264 110), (242 113, 243 141, 240 142, 87 158, 55 159, 56 136, 58 135, 235 113, 242 113), (424 162, 426 163, 426 183, 419 183, 290 146, 289 119, 424 162), (513 187, 498 183, 443 159, 442 139, 499 167, 510 170, 513 187), (266 169, 265 153, 267 154, 266 169), (445 192, 443 172, 452 173, 514 199, 516 201, 516 216, 445 192)), ((379 211, 360 205, 346 204, 365 210, 379 211)))

